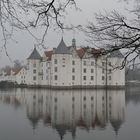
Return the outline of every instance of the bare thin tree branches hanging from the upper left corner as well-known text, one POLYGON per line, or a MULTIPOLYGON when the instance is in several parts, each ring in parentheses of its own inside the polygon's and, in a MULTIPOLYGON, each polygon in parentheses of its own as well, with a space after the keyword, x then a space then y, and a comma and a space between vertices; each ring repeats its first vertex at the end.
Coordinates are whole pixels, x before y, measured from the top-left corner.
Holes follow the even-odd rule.
POLYGON ((28 31, 40 41, 32 30, 43 28, 40 41, 43 43, 49 27, 71 28, 63 22, 69 7, 76 8, 75 0, 0 0, 0 25, 4 40, 1 50, 6 50, 8 39, 17 29, 28 31))

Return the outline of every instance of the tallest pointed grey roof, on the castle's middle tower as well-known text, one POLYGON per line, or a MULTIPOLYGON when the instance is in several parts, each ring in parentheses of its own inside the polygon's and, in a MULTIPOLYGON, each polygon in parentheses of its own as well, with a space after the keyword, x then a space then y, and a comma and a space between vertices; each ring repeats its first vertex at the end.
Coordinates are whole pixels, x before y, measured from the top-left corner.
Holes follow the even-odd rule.
POLYGON ((55 49, 55 54, 70 54, 69 49, 67 48, 65 42, 63 41, 63 38, 58 45, 58 47, 55 49))

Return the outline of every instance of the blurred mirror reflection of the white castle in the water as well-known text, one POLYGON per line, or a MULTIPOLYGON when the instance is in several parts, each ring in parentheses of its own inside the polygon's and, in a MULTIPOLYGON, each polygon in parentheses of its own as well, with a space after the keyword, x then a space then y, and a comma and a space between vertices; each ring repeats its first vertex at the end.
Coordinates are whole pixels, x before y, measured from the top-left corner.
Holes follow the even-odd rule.
POLYGON ((35 129, 40 121, 51 126, 61 139, 76 129, 105 129, 111 125, 115 133, 125 119, 125 90, 33 90, 16 89, 0 94, 3 103, 25 107, 27 118, 35 129))

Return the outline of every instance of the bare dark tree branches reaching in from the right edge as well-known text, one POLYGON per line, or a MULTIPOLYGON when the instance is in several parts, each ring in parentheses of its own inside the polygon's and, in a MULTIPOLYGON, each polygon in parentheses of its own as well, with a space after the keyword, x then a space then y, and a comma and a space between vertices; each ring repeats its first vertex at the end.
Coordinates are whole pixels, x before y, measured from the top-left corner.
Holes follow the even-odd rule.
POLYGON ((102 54, 124 50, 124 61, 132 64, 140 55, 140 6, 129 11, 133 18, 127 18, 117 11, 96 14, 95 22, 89 22, 84 32, 90 43, 104 48, 102 54))

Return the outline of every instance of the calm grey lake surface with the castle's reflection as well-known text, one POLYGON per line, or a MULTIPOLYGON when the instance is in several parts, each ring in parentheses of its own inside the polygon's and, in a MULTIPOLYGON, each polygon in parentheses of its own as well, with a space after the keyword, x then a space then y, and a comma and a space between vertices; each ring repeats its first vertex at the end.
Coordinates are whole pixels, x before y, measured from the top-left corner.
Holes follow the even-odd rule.
POLYGON ((0 90, 0 140, 140 140, 140 88, 0 90))

